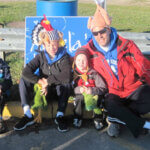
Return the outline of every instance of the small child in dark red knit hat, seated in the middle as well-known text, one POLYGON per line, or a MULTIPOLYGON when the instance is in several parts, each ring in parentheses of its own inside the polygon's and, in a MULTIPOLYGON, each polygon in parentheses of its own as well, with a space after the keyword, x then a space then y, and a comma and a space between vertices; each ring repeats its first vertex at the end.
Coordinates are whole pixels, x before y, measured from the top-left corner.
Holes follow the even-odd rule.
POLYGON ((90 67, 90 56, 85 48, 76 51, 73 70, 75 93, 73 125, 81 127, 85 106, 87 111, 93 110, 95 128, 100 130, 107 125, 100 108, 107 86, 103 78, 90 67))

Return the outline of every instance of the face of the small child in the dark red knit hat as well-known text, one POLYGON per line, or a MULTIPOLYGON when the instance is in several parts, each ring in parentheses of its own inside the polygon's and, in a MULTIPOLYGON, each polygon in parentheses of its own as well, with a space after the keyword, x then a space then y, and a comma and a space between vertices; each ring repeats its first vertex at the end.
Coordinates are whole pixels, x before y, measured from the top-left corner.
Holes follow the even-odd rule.
POLYGON ((79 54, 79 55, 76 57, 75 64, 76 64, 77 68, 78 68, 81 72, 86 71, 86 70, 87 70, 87 67, 88 67, 88 60, 87 60, 86 55, 84 55, 84 54, 79 54))

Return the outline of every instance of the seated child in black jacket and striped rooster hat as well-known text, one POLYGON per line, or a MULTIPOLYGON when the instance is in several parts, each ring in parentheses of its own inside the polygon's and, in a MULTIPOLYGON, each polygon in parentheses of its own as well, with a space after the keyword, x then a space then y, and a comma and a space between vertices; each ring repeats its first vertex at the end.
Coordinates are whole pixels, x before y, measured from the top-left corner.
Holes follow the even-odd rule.
POLYGON ((15 125, 14 130, 23 130, 34 124, 30 103, 33 99, 32 93, 35 85, 38 84, 41 88, 41 95, 46 96, 48 101, 54 98, 58 100, 55 118, 58 131, 68 131, 64 114, 71 90, 72 73, 70 57, 66 53, 62 34, 55 30, 44 16, 44 19, 35 26, 32 40, 33 44, 43 49, 23 69, 19 91, 24 116, 15 125), (38 75, 35 74, 37 69, 39 69, 38 75))

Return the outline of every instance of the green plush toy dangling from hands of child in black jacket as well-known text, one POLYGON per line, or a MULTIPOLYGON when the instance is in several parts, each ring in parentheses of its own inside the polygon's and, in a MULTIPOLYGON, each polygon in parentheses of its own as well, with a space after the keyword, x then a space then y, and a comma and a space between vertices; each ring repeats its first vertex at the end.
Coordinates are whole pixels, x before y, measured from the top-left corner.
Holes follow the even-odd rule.
POLYGON ((33 110, 38 110, 37 117, 35 118, 35 122, 41 123, 42 117, 41 117, 41 110, 47 108, 47 100, 45 95, 41 94, 41 86, 39 84, 34 85, 34 105, 32 105, 33 110))

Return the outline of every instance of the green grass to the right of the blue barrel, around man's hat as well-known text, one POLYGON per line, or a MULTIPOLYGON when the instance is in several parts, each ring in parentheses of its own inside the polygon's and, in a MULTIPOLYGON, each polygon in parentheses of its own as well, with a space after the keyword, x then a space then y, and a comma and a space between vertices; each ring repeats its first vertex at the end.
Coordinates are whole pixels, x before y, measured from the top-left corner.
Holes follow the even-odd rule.
MULTIPOLYGON (((95 4, 80 4, 78 15, 93 16, 95 9, 95 4)), ((117 30, 150 32, 150 6, 108 5, 107 10, 110 17, 112 17, 112 26, 117 30)))

